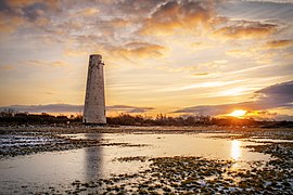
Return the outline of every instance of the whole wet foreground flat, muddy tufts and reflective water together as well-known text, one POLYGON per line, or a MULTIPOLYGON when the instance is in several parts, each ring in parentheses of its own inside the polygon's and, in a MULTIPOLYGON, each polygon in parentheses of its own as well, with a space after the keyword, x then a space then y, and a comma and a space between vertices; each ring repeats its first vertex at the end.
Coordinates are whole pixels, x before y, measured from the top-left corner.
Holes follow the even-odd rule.
POLYGON ((0 128, 0 194, 292 194, 293 130, 0 128))

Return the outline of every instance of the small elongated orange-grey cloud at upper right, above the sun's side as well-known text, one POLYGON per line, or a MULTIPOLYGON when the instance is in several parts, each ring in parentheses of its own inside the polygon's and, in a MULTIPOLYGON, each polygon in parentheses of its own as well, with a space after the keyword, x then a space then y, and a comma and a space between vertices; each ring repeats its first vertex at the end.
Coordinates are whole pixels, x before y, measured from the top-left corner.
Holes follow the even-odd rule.
POLYGON ((254 39, 264 38, 278 31, 277 24, 238 21, 230 26, 222 27, 214 35, 232 39, 254 39))

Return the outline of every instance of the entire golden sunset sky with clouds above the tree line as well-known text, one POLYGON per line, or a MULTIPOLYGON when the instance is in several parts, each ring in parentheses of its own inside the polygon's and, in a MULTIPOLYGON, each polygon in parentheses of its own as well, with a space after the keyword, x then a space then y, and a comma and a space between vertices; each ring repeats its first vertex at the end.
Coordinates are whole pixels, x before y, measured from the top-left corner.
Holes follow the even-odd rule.
POLYGON ((293 0, 0 0, 0 107, 293 120, 293 0))

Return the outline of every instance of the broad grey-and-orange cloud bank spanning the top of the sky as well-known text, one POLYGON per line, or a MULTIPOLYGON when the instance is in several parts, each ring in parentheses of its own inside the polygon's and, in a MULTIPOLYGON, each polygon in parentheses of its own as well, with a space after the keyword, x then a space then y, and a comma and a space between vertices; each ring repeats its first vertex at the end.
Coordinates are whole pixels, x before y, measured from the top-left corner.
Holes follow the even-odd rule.
MULTIPOLYGON (((85 0, 82 3, 58 0, 7 0, 2 2, 2 6, 0 5, 2 9, 0 30, 14 32, 18 28, 26 29, 31 35, 47 34, 53 39, 63 39, 63 41, 74 36, 87 38, 95 36, 97 44, 106 43, 107 47, 109 44, 113 47, 115 42, 123 46, 132 38, 141 38, 144 35, 191 32, 206 37, 214 32, 226 38, 239 39, 259 38, 279 29, 277 24, 269 22, 229 21, 228 17, 217 13, 216 8, 221 3, 222 1, 218 0, 105 2, 85 0), (221 27, 218 29, 218 26, 221 27), (61 35, 64 37, 60 37, 61 35)), ((85 44, 79 39, 76 41, 85 44)), ((93 41, 87 40, 87 42, 90 44, 93 41)), ((198 50, 202 47, 204 46, 195 42, 193 48, 198 50)))

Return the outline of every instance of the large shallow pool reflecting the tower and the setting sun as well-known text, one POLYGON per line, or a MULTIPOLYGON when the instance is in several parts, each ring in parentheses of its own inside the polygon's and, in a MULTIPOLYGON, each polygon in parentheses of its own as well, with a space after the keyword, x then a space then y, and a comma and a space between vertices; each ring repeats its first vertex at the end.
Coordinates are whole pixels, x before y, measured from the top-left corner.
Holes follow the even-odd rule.
POLYGON ((38 192, 48 190, 49 186, 64 192, 75 180, 91 181, 111 174, 135 173, 146 169, 150 164, 150 161, 117 160, 122 157, 202 156, 233 160, 233 169, 245 168, 250 161, 269 159, 269 155, 250 152, 249 148, 242 147, 260 143, 212 139, 211 133, 80 133, 64 136, 102 140, 104 146, 1 159, 1 193, 13 193, 14 190, 14 193, 38 192))

